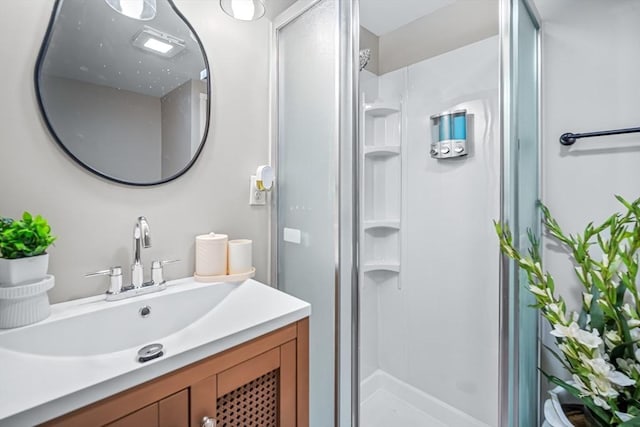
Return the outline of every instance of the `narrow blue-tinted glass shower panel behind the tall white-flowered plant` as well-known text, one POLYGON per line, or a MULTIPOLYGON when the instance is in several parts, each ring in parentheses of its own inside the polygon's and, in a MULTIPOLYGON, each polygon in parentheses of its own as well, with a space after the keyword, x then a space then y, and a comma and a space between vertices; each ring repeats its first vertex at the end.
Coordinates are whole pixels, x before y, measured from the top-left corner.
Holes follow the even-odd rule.
MULTIPOLYGON (((539 21, 526 0, 511 1, 511 119, 505 141, 509 164, 506 219, 522 253, 530 248, 530 230, 540 236, 539 199, 539 21)), ((510 264, 509 425, 534 427, 539 418, 538 311, 527 290, 527 276, 510 264)))

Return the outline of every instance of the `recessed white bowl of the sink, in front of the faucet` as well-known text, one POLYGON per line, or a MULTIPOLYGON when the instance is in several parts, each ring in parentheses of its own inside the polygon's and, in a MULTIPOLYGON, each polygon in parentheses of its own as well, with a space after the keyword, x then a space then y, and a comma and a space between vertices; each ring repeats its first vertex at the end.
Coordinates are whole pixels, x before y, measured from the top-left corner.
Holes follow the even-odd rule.
MULTIPOLYGON (((100 301, 87 311, 0 333, 0 348, 43 356, 90 356, 161 341, 215 309, 238 285, 170 287, 115 302, 100 301), (141 311, 149 314, 142 317, 141 311)), ((84 310, 83 310, 84 308, 84 310)))

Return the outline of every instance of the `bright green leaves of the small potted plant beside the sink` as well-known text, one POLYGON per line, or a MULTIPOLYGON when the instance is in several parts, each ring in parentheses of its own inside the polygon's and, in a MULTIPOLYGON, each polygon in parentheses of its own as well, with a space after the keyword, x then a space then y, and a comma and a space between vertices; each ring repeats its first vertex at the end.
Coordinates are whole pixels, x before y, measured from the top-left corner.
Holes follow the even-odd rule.
POLYGON ((0 256, 7 259, 42 255, 56 237, 40 215, 22 214, 22 219, 0 219, 0 256))

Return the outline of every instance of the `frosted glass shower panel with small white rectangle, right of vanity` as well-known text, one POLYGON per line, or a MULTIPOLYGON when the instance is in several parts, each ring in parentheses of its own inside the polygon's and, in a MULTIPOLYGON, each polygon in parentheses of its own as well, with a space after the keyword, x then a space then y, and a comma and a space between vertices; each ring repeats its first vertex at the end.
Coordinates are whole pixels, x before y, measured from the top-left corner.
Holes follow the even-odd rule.
MULTIPOLYGON (((335 422, 338 0, 276 29, 278 288, 311 303, 310 425, 335 422)), ((276 23, 276 26, 278 24, 276 23)))

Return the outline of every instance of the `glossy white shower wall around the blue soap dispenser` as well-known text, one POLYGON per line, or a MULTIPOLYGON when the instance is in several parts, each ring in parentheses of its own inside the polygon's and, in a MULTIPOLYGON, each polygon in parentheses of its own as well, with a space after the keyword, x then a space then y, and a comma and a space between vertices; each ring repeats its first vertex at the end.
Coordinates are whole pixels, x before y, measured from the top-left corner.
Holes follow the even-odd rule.
POLYGON ((400 101, 403 117, 400 277, 363 280, 361 377, 382 370, 469 425, 497 425, 498 65, 490 37, 361 81, 367 102, 400 101), (429 117, 459 108, 469 155, 432 159, 429 117))

